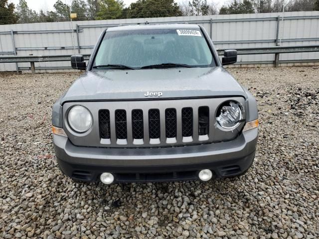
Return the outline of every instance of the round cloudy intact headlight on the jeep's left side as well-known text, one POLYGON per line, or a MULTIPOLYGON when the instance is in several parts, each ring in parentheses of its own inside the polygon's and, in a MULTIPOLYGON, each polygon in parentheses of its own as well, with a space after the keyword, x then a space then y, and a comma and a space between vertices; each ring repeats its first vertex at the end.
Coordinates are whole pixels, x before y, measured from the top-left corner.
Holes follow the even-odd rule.
POLYGON ((85 107, 74 106, 69 111, 68 122, 74 131, 83 133, 91 127, 92 116, 85 107))

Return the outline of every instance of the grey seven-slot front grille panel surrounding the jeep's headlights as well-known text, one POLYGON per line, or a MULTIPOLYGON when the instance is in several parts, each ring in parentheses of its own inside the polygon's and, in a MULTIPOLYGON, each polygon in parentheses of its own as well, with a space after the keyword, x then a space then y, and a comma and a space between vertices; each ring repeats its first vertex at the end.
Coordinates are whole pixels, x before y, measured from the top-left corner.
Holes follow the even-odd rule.
MULTIPOLYGON (((215 114, 230 99, 245 105, 242 97, 81 102, 76 104, 91 112, 92 127, 74 134, 65 121, 64 130, 78 146, 157 148, 227 141, 234 133, 221 129, 215 114)), ((72 106, 72 102, 64 104, 63 119, 72 106)))

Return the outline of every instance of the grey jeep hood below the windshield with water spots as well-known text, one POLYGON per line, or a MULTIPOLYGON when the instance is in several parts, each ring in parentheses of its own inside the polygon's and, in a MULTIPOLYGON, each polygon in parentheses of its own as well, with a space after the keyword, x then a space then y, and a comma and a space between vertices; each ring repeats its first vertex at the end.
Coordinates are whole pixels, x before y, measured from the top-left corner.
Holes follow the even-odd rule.
POLYGON ((69 101, 149 100, 243 96, 241 85, 222 67, 88 71, 61 98, 69 101), (144 96, 162 92, 162 96, 144 96))

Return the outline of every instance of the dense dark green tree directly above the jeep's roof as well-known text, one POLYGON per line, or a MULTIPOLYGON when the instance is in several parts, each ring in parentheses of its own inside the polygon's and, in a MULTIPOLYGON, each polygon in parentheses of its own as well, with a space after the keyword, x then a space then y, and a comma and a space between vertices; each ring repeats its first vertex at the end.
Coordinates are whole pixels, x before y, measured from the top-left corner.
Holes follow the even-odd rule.
POLYGON ((122 18, 182 16, 174 0, 138 0, 123 11, 122 18))

